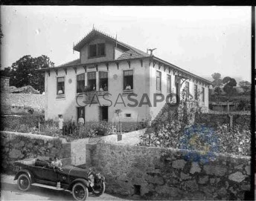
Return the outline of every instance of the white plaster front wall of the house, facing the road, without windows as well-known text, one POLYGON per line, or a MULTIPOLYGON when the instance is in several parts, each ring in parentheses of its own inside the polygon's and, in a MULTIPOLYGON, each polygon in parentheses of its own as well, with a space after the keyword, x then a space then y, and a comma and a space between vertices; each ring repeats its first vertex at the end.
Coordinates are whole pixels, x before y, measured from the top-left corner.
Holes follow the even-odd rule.
MULTIPOLYGON (((133 104, 127 99, 127 95, 123 94, 123 70, 134 70, 134 90, 138 96, 133 96, 138 100, 138 103, 141 100, 141 96, 145 93, 147 89, 146 80, 148 79, 147 70, 148 61, 145 59, 143 62, 143 67, 141 67, 141 62, 132 60, 130 63, 130 68, 127 62, 120 62, 119 69, 115 63, 109 64, 109 93, 111 95, 106 96, 104 100, 103 96, 98 96, 100 105, 109 105, 109 101, 112 101, 112 105, 109 105, 109 122, 115 119, 116 114, 115 110, 121 109, 121 118, 123 121, 134 122, 141 121, 146 119, 147 113, 149 113, 149 108, 147 105, 142 105, 141 107, 132 108, 127 104, 133 104), (117 76, 117 79, 114 79, 114 75, 117 76), (115 104, 115 102, 122 102, 121 96, 118 98, 118 94, 121 94, 124 99, 124 104, 115 104), (118 100, 117 100, 118 99, 118 100), (131 113, 131 117, 126 117, 125 113, 131 113)), ((106 71, 106 65, 99 65, 98 71, 106 71)), ((87 72, 95 71, 95 69, 88 69, 87 72)), ((51 70, 51 75, 48 76, 48 73, 45 74, 45 99, 47 102, 47 111, 45 112, 45 119, 57 119, 58 114, 63 114, 63 118, 68 120, 74 116, 77 119, 77 107, 83 104, 81 102, 82 96, 78 99, 80 105, 77 105, 76 101, 76 90, 77 90, 77 78, 76 76, 80 73, 85 73, 83 67, 77 67, 77 74, 73 68, 67 70, 67 75, 65 75, 64 70, 58 70, 58 76, 54 70, 51 70), (57 77, 65 77, 65 98, 57 99, 57 77), (71 79, 71 83, 68 80, 71 79)), ((98 90, 98 72, 97 75, 97 90, 98 90)), ((86 82, 87 82, 87 73, 86 73, 86 82)), ((99 119, 99 104, 87 105, 85 108, 86 111, 86 121, 98 121, 99 119)))

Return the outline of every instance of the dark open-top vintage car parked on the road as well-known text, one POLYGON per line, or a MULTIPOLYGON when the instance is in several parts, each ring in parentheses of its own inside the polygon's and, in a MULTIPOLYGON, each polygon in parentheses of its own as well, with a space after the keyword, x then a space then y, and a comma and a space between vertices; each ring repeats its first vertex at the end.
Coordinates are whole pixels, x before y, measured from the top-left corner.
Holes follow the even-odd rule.
POLYGON ((64 165, 54 167, 51 161, 24 159, 14 163, 20 167, 14 180, 17 179, 21 191, 28 191, 31 185, 70 191, 75 200, 86 200, 89 193, 100 196, 105 191, 105 178, 89 170, 64 165))

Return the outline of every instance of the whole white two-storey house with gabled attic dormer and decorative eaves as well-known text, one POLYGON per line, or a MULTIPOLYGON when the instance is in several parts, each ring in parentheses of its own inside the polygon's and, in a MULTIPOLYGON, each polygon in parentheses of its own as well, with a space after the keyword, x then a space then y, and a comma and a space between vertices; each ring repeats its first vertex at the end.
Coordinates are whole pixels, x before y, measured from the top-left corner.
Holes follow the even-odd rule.
MULTIPOLYGON (((184 86, 208 110, 206 79, 124 44, 95 28, 74 45, 80 58, 45 71, 45 119, 141 122, 184 86), (87 87, 86 95, 83 90, 87 87), (197 96, 198 92, 202 94, 197 96)), ((178 95, 179 96, 179 95, 178 95)))

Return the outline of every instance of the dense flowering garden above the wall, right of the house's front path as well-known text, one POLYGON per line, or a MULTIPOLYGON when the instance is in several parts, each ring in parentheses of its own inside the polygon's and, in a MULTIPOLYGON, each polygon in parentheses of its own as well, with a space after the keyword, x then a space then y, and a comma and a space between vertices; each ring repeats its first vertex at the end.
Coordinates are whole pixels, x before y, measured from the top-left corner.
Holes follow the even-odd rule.
POLYGON ((250 156, 251 131, 248 124, 230 126, 218 123, 216 118, 214 125, 217 126, 211 126, 207 123, 208 114, 205 115, 205 124, 202 121, 194 123, 197 114, 203 116, 198 101, 188 98, 183 92, 178 107, 164 105, 151 127, 140 136, 139 145, 250 156))

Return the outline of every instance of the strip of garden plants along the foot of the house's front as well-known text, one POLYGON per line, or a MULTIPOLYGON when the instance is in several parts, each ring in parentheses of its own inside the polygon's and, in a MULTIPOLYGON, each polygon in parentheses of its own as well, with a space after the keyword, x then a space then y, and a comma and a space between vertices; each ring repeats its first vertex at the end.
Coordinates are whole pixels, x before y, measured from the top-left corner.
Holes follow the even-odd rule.
POLYGON ((119 134, 121 131, 131 132, 145 128, 145 122, 85 122, 84 125, 76 125, 74 122, 65 121, 63 131, 60 131, 58 122, 45 120, 39 113, 21 113, 19 115, 1 116, 0 131, 13 131, 20 133, 41 134, 47 136, 58 136, 71 142, 74 139, 87 137, 106 136, 119 134))

